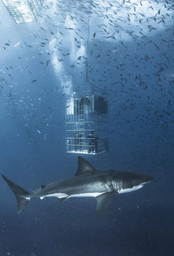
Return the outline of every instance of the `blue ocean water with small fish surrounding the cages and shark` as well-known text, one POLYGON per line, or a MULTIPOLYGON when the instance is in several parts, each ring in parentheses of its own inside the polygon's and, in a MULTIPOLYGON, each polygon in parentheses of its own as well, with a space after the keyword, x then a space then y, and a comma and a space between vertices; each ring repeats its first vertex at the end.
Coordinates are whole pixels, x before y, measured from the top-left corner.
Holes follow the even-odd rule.
MULTIPOLYGON (((16 4, 18 1, 16 1, 16 4)), ((106 92, 109 152, 98 170, 154 180, 96 200, 16 198, 0 179, 0 255, 174 255, 173 1, 44 1, 37 22, 16 24, 0 2, 0 170, 27 191, 75 175, 66 152, 65 100, 106 92)))

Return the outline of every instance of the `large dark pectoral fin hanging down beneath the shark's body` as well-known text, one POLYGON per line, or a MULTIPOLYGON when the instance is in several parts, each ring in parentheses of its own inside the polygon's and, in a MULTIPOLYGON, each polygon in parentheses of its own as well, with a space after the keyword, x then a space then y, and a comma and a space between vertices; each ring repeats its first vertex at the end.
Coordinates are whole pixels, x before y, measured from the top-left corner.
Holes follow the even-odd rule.
POLYGON ((95 197, 97 200, 97 207, 95 210, 96 218, 101 217, 107 211, 114 199, 114 195, 114 192, 107 192, 95 197))

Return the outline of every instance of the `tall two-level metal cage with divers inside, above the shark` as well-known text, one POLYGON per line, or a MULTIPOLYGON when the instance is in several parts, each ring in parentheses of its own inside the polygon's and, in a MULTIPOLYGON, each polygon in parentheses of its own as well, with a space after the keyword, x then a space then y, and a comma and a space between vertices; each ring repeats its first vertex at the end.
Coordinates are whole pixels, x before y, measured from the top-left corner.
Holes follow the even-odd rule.
POLYGON ((84 92, 66 101, 66 144, 68 153, 108 152, 108 99, 84 92))

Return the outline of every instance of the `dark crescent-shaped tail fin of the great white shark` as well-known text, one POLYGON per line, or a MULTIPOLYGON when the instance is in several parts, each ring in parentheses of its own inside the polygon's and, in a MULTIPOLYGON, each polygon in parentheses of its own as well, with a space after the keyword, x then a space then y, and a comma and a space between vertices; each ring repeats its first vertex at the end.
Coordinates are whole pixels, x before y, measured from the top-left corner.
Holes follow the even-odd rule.
POLYGON ((7 179, 3 174, 1 175, 16 196, 18 204, 18 213, 23 212, 28 204, 28 201, 30 200, 30 193, 16 185, 11 180, 7 179))

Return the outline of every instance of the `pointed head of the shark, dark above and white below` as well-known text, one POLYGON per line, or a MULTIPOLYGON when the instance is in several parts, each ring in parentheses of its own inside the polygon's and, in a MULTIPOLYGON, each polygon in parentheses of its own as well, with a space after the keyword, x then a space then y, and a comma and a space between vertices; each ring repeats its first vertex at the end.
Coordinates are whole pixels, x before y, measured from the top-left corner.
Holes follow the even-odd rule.
POLYGON ((121 172, 121 177, 118 182, 114 182, 116 193, 127 193, 139 188, 142 188, 144 184, 152 181, 154 177, 148 174, 142 174, 138 172, 121 172))

